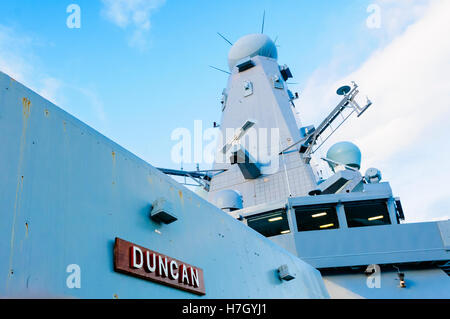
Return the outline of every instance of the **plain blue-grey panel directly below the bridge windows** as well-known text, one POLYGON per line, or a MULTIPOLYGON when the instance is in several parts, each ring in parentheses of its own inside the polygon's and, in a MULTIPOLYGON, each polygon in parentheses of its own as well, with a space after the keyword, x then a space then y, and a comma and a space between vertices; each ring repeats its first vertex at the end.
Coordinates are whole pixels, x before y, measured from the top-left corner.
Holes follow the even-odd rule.
POLYGON ((437 223, 296 232, 298 256, 316 268, 450 259, 437 223))

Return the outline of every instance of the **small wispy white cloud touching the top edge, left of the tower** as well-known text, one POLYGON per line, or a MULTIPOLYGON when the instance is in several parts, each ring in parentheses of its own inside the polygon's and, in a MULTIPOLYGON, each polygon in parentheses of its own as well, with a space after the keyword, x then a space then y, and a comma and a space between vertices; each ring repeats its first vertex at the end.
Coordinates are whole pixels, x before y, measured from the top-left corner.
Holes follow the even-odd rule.
POLYGON ((151 13, 162 6, 165 0, 102 0, 102 14, 121 28, 134 28, 129 39, 132 47, 144 49, 151 28, 151 13))

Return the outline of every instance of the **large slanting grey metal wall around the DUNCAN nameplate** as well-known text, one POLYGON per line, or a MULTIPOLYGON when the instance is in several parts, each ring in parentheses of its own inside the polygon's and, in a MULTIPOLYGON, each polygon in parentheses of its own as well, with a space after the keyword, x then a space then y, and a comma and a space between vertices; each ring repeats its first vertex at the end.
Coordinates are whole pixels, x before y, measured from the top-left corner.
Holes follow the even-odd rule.
POLYGON ((198 298, 114 272, 115 237, 202 268, 207 298, 328 296, 317 270, 3 73, 0 145, 0 297, 198 298), (157 198, 176 222, 149 218, 157 198))

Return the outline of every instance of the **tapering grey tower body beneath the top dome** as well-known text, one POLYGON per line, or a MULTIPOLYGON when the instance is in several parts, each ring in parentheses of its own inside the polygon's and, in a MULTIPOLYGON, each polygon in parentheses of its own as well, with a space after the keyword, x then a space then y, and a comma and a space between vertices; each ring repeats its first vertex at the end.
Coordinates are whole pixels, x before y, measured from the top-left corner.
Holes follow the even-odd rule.
MULTIPOLYGON (((214 164, 213 169, 227 169, 228 171, 215 176, 211 182, 209 200, 221 190, 233 189, 241 193, 244 207, 254 206, 266 202, 283 200, 292 196, 306 196, 316 185, 316 179, 310 165, 304 164, 300 154, 292 153, 278 155, 278 153, 300 139, 300 131, 289 98, 287 84, 280 74, 276 59, 255 56, 251 58, 254 66, 243 72, 237 67, 232 69, 228 81, 225 105, 222 114, 221 133, 226 137, 227 129, 238 129, 245 121, 255 121, 253 133, 258 134, 258 143, 264 138, 261 129, 267 129, 267 149, 257 150, 248 142, 248 137, 242 138, 248 151, 258 159, 258 155, 271 154, 270 174, 264 174, 256 179, 245 179, 238 165, 229 163, 214 164), (250 85, 249 85, 250 84, 250 85), (251 94, 248 94, 248 88, 251 94), (279 129, 278 149, 271 150, 272 129, 279 129), (245 143, 247 141, 247 143, 245 143), (259 153, 258 153, 259 151, 259 153)), ((223 141, 225 143, 225 140, 223 141)), ((219 142, 219 146, 221 142, 219 142)))

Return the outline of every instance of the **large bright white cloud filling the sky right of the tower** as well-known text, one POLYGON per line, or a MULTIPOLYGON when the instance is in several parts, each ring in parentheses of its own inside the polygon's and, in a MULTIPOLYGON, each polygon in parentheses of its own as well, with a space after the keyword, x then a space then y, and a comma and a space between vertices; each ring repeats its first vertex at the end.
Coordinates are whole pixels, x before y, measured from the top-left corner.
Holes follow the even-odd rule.
MULTIPOLYGON (((394 193, 402 197, 408 221, 445 218, 450 209, 441 207, 450 198, 450 190, 443 185, 450 180, 446 167, 450 158, 450 1, 425 3, 427 9, 417 13, 417 20, 404 21, 403 28, 390 26, 389 32, 403 31, 352 74, 317 70, 301 102, 303 122, 317 123, 339 101, 335 94, 339 86, 354 80, 370 96, 373 106, 361 118, 344 124, 324 151, 339 140, 360 146, 363 170, 375 166, 385 172, 394 193)), ((395 12, 401 20, 403 11, 395 12)), ((390 14, 390 19, 396 18, 390 14)))

